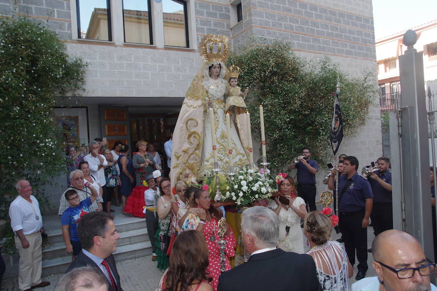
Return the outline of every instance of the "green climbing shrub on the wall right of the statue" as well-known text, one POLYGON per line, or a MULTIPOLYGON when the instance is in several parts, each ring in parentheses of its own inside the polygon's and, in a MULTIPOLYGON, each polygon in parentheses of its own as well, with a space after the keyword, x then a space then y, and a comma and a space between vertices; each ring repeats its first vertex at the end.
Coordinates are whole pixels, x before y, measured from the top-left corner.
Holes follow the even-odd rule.
POLYGON ((305 61, 279 41, 257 43, 233 54, 227 65, 239 66, 239 86, 251 89, 246 104, 258 140, 258 106, 264 106, 268 160, 275 171, 300 156, 304 146, 311 148, 313 159, 326 160, 337 76, 345 136, 364 124, 375 94, 369 75, 348 78, 328 57, 305 61))

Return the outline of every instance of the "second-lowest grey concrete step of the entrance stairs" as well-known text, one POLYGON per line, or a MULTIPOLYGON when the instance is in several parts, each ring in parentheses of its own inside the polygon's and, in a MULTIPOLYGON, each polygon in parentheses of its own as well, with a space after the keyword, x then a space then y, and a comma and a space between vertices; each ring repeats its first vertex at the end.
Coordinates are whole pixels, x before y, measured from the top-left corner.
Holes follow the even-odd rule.
MULTIPOLYGON (((126 244, 149 241, 149 236, 147 235, 147 228, 124 231, 119 233, 119 235, 120 238, 117 240, 117 247, 126 244)), ((66 256, 67 253, 66 253, 64 241, 46 245, 42 250, 42 255, 43 255, 43 260, 55 259, 55 258, 66 256)))

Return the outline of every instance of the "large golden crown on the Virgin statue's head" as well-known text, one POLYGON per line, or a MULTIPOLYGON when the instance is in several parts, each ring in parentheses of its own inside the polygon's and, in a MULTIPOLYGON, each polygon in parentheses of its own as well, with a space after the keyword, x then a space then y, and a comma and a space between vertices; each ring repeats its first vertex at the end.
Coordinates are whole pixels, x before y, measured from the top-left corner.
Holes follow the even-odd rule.
POLYGON ((225 35, 205 34, 199 43, 202 59, 209 62, 226 62, 231 54, 228 37, 225 35))

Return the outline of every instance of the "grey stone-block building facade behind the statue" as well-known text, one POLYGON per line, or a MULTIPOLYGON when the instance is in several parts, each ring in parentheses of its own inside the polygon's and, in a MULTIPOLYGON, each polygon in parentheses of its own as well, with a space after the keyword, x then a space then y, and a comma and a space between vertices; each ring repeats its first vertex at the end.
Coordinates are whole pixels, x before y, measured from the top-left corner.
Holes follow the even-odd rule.
MULTIPOLYGON (((138 125, 139 120, 146 119, 154 121, 142 126, 155 124, 153 130, 161 130, 159 136, 165 141, 176 122, 190 81, 202 64, 197 44, 205 33, 227 35, 233 50, 250 45, 252 37, 286 40, 302 57, 313 59, 327 55, 351 77, 371 72, 375 75, 375 86, 377 83, 371 0, 144 0, 149 5, 151 44, 125 42, 125 1, 122 0, 95 1, 107 5, 96 8, 110 8, 107 9, 110 40, 84 39, 85 32, 78 29, 81 23, 78 9, 93 2, 0 0, 1 15, 29 16, 46 22, 66 42, 71 56, 80 56, 88 63, 86 92, 80 103, 72 99, 70 104, 86 109, 84 124, 87 124, 87 130, 81 136, 81 142, 107 137, 108 140, 131 143, 140 137, 138 132, 133 132, 140 127, 135 129, 133 124, 138 125), (170 2, 183 7, 186 47, 165 43, 163 14, 174 12, 165 9, 166 5, 172 4, 170 2), (108 121, 107 110, 124 112, 125 119, 108 121), (118 125, 126 126, 125 132, 120 131, 123 135, 114 135, 118 125), (107 134, 108 128, 112 135, 107 134), (137 135, 134 137, 134 134, 137 135)), ((382 153, 376 101, 375 95, 365 126, 358 129, 355 136, 346 137, 339 151, 356 156, 362 165, 369 164, 382 153)), ((62 105, 66 104, 59 104, 62 105)), ((75 110, 82 110, 80 108, 75 110)), ((58 108, 57 113, 76 114, 68 110, 73 109, 58 108)), ((119 117, 118 113, 114 114, 119 117)), ((318 189, 325 190, 320 182, 326 169, 323 166, 320 169, 318 189)), ((59 182, 57 188, 50 190, 55 206, 65 178, 60 178, 59 182)))

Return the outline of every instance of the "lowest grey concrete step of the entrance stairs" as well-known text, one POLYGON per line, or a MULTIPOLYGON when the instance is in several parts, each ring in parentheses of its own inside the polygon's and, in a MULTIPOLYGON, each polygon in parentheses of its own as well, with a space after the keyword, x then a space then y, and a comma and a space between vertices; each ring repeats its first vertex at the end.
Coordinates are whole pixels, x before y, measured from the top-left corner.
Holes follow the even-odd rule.
MULTIPOLYGON (((117 251, 114 252, 116 261, 126 259, 136 259, 151 255, 151 243, 137 242, 133 244, 126 244, 117 246, 117 251)), ((54 259, 46 259, 42 262, 42 275, 49 276, 54 274, 64 273, 71 264, 71 256, 57 257, 54 259)))

